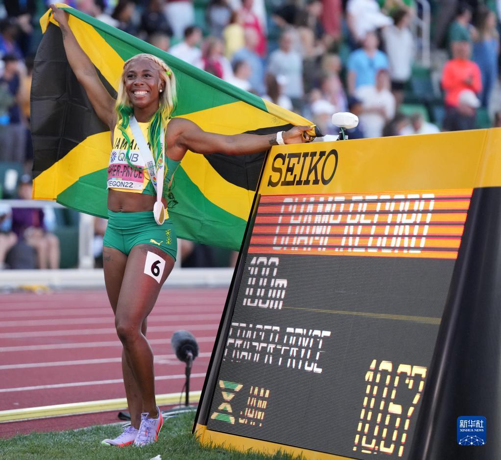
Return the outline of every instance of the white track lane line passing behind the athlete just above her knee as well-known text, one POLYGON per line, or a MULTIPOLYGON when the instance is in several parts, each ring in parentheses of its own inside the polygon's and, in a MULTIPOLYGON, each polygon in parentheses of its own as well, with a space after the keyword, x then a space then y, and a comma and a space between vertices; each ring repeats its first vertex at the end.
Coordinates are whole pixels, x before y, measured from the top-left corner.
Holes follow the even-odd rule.
MULTIPOLYGON (((188 308, 188 307, 178 307, 177 305, 155 305, 153 312, 151 315, 155 315, 158 313, 169 313, 169 314, 178 314, 178 313, 190 313, 190 314, 198 314, 199 312, 204 312, 210 310, 214 313, 222 312, 224 307, 224 302, 216 305, 217 308, 213 308, 210 305, 198 305, 196 308, 188 308)), ((111 307, 107 305, 106 307, 100 308, 76 308, 76 309, 67 309, 67 310, 40 310, 38 312, 26 312, 26 311, 12 311, 12 312, 0 312, 2 318, 36 318, 36 317, 47 317, 47 316, 56 316, 58 318, 64 318, 66 316, 106 316, 109 317, 113 315, 111 307)))

